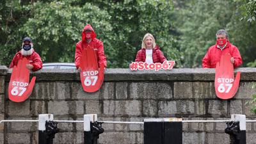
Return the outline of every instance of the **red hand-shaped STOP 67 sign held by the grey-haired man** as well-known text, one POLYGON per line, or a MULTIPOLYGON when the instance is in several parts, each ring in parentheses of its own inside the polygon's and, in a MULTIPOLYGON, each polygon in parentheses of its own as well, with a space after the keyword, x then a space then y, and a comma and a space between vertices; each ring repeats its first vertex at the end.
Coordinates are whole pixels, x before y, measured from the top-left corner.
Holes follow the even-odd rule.
POLYGON ((221 56, 220 62, 216 65, 215 73, 215 92, 220 99, 230 99, 236 94, 241 72, 237 72, 234 79, 234 66, 230 62, 230 54, 221 56))

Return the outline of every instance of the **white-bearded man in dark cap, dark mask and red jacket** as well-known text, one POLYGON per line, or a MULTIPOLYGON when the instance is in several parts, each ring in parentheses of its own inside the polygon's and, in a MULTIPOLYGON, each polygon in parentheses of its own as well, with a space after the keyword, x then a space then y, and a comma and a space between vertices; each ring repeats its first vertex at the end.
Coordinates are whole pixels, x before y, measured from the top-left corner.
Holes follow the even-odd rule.
POLYGON ((29 64, 26 65, 26 68, 29 70, 35 71, 42 68, 42 60, 39 54, 33 49, 33 43, 29 37, 23 38, 22 49, 13 57, 10 68, 13 68, 15 65, 17 66, 18 61, 22 58, 27 58, 29 60, 29 64))

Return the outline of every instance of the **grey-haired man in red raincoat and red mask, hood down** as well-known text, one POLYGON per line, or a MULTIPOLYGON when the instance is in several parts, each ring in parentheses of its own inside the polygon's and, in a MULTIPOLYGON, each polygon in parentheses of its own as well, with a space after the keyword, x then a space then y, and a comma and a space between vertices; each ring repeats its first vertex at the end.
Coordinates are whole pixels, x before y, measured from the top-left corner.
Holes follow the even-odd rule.
POLYGON ((220 29, 216 33, 216 44, 209 47, 207 53, 202 60, 203 68, 215 68, 216 64, 220 61, 222 55, 230 54, 230 62, 234 68, 242 65, 243 60, 240 52, 235 45, 230 44, 228 41, 228 33, 224 29, 220 29))

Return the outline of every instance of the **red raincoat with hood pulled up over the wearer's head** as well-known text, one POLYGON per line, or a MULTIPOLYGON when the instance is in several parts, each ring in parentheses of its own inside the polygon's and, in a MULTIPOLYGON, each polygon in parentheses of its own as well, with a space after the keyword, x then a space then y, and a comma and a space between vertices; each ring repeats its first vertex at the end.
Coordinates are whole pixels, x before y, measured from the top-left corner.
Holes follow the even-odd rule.
POLYGON ((75 54, 75 65, 77 68, 80 67, 80 58, 82 56, 82 51, 84 47, 87 46, 93 47, 93 50, 95 51, 97 61, 98 61, 98 67, 100 66, 100 63, 104 63, 104 67, 107 67, 107 60, 106 56, 104 54, 104 46, 103 43, 96 38, 96 33, 93 30, 92 26, 90 24, 87 24, 84 26, 83 32, 82 32, 82 40, 77 42, 76 44, 76 54, 75 54), (90 29, 92 31, 92 41, 88 44, 86 42, 86 35, 84 34, 84 31, 86 29, 90 29))

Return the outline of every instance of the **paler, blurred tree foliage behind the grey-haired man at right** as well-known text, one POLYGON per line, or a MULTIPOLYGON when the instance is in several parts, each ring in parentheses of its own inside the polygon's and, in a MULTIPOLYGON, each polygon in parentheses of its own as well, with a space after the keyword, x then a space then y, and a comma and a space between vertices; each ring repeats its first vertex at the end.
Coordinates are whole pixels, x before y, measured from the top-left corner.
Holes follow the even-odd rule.
POLYGON ((216 43, 215 33, 226 29, 230 42, 241 52, 244 65, 255 60, 255 24, 241 21, 244 10, 240 1, 200 0, 177 3, 180 51, 184 52, 184 67, 201 67, 207 49, 216 43))

